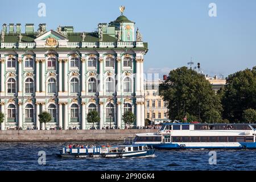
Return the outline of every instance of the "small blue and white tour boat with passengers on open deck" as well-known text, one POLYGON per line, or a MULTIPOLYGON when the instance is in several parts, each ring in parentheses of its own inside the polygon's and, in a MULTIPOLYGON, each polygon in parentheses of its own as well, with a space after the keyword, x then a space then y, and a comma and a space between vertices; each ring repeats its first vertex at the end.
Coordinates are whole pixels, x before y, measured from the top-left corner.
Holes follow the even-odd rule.
POLYGON ((84 148, 64 147, 57 154, 63 158, 133 158, 154 156, 155 150, 146 144, 96 146, 84 148))

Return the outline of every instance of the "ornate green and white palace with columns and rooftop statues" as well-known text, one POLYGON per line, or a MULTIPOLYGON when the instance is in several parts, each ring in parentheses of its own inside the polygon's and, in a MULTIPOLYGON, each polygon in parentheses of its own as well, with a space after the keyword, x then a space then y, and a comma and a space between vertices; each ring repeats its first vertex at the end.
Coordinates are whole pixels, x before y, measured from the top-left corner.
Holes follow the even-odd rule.
POLYGON ((98 24, 95 32, 74 32, 46 24, 3 24, 0 44, 1 130, 40 125, 38 115, 48 111, 49 128, 92 126, 89 111, 97 110, 98 129, 123 129, 122 115, 133 111, 134 126, 144 126, 143 60, 147 43, 135 23, 122 14, 113 22, 98 24), (14 31, 15 29, 15 31, 14 31))

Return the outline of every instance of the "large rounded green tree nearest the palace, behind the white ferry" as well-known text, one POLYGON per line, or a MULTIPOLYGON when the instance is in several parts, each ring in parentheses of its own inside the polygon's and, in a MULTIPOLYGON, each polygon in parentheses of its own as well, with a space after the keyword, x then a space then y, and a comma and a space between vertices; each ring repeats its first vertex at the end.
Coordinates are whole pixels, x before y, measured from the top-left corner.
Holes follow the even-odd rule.
POLYGON ((180 120, 186 114, 193 120, 209 122, 221 119, 221 100, 212 90, 212 85, 205 77, 187 67, 170 71, 169 76, 159 86, 160 96, 168 105, 170 119, 180 120), (218 117, 210 117, 217 113, 218 117))

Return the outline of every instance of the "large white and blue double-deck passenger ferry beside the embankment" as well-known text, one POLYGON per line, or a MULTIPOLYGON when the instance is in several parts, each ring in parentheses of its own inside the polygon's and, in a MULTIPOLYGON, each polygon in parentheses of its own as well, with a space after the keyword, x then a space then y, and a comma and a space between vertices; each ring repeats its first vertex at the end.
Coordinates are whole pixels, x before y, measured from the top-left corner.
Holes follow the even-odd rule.
POLYGON ((130 143, 158 149, 256 148, 255 128, 256 124, 164 123, 157 133, 136 134, 130 143))

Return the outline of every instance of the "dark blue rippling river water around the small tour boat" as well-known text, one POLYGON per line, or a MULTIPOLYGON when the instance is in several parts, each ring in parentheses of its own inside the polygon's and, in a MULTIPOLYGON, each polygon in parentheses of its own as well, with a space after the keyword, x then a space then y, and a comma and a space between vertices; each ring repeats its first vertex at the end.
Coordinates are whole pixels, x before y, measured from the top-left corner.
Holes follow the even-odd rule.
MULTIPOLYGON (((86 144, 122 144, 94 142, 86 144)), ((156 150, 154 158, 63 159, 56 156, 67 142, 0 143, 0 170, 256 170, 256 150, 214 150, 216 164, 209 164, 211 150, 156 150), (46 164, 38 152, 46 152, 46 164)), ((78 144, 78 143, 76 143, 78 144)), ((82 143, 85 144, 85 143, 82 143)), ((212 158, 210 159, 212 163, 212 158)))

